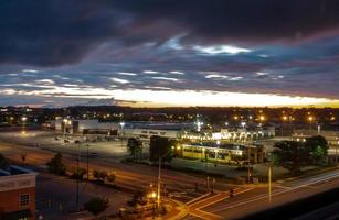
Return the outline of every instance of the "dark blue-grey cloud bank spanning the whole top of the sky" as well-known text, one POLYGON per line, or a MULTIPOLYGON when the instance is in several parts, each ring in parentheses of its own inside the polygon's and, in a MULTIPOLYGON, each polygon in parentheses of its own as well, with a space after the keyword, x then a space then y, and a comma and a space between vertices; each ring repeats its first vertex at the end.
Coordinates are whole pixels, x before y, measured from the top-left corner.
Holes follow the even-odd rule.
POLYGON ((335 32, 337 0, 2 0, 0 62, 57 66, 105 42, 295 42, 335 32))

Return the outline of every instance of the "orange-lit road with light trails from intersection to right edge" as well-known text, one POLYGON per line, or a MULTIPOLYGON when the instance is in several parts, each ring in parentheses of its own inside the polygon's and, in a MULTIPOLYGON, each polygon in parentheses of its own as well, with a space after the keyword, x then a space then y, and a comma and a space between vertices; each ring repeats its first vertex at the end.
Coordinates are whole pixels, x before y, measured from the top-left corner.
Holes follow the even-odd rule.
MULTIPOLYGON (((247 187, 235 190, 230 199, 229 194, 218 194, 188 205, 187 216, 182 219, 239 219, 284 204, 306 198, 338 187, 339 170, 319 174, 312 177, 275 185, 269 201, 266 187, 247 187)), ((332 206, 326 207, 329 213, 332 206)), ((307 217, 307 216, 306 216, 307 217)), ((300 218, 301 219, 301 218, 300 218)), ((304 218, 305 219, 305 218, 304 218)), ((306 218, 307 219, 307 218, 306 218)))

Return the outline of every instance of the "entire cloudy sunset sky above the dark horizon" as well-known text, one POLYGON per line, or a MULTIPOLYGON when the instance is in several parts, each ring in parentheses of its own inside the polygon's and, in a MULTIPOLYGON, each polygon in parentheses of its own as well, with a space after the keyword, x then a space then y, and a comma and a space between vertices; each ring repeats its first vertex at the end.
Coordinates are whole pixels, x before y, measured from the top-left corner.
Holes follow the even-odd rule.
POLYGON ((339 107, 337 0, 1 0, 0 106, 339 107))

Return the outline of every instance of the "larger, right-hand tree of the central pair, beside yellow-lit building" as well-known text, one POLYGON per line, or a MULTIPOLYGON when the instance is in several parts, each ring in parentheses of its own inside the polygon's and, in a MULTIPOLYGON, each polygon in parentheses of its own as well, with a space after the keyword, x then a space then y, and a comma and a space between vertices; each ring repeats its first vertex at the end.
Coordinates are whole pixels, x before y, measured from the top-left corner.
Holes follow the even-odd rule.
POLYGON ((149 144, 149 161, 157 162, 161 157, 165 162, 172 160, 170 141, 162 136, 151 136, 149 144))

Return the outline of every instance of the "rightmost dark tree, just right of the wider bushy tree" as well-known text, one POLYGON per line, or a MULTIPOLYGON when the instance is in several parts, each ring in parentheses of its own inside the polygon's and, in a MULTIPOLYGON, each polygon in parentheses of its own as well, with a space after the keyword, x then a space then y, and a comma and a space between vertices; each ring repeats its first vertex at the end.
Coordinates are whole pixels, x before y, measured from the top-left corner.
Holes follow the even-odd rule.
POLYGON ((305 146, 310 152, 310 158, 314 164, 319 164, 328 154, 328 143, 321 135, 306 139, 305 146))

